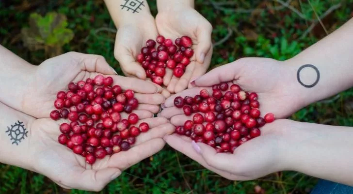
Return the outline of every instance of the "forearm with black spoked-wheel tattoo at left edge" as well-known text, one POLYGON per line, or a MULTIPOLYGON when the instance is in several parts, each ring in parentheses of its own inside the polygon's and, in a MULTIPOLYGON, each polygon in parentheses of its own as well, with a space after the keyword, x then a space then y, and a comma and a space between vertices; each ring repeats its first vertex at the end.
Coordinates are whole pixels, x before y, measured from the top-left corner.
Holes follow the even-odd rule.
POLYGON ((31 146, 31 131, 29 131, 29 128, 33 120, 32 117, 0 103, 1 163, 33 171, 32 157, 29 151, 31 146))

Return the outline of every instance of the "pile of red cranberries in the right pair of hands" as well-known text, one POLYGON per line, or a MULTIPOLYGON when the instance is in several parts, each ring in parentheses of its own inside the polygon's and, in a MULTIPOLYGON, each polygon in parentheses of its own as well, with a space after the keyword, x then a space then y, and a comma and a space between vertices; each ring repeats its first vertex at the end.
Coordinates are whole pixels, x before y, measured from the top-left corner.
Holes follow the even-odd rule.
POLYGON ((212 86, 212 95, 203 89, 195 97, 176 97, 174 105, 193 115, 176 133, 212 146, 217 152, 231 152, 261 134, 260 127, 274 121, 273 113, 260 117, 256 93, 247 93, 237 84, 212 86))

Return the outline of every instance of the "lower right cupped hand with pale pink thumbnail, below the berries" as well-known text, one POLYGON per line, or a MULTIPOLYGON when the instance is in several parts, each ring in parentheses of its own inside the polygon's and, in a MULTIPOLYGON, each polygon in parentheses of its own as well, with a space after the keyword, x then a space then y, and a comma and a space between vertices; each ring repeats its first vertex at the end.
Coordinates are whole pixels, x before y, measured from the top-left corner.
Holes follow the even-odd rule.
POLYGON ((289 170, 286 144, 293 121, 279 119, 261 128, 261 135, 237 147, 233 154, 217 153, 190 137, 172 134, 164 137, 167 144, 200 163, 205 168, 231 180, 252 180, 273 172, 289 170))

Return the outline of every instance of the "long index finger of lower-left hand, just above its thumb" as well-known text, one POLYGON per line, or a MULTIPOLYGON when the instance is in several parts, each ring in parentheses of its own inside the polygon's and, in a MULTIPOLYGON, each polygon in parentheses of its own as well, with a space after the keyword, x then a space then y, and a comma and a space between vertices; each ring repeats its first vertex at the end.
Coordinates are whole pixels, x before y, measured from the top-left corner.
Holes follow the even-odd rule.
POLYGON ((164 145, 165 142, 162 139, 149 140, 138 146, 131 147, 128 151, 113 154, 108 162, 108 166, 125 170, 145 158, 151 157, 160 151, 164 145))

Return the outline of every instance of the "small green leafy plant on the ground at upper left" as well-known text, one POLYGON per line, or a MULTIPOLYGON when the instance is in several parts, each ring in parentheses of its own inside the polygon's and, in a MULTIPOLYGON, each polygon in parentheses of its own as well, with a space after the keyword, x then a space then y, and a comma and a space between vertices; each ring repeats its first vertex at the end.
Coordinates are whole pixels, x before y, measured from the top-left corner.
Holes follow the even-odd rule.
POLYGON ((31 51, 44 49, 47 57, 62 54, 63 46, 74 37, 74 32, 66 28, 66 16, 56 12, 49 12, 44 17, 32 13, 29 25, 21 30, 24 45, 31 51))

